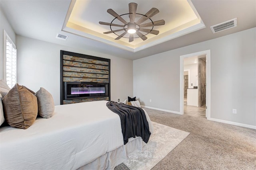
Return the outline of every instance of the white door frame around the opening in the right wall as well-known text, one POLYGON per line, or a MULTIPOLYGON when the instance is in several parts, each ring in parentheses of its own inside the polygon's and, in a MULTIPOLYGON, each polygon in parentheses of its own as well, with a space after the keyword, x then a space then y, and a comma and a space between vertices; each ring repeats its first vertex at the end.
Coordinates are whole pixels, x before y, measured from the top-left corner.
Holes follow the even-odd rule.
POLYGON ((184 114, 184 58, 206 55, 206 118, 211 118, 211 50, 180 56, 180 114, 184 114))

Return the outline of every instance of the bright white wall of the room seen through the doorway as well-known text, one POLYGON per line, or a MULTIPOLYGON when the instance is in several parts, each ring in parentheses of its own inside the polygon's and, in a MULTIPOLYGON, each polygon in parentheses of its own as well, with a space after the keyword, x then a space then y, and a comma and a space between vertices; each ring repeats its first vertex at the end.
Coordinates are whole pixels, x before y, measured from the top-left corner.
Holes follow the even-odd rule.
POLYGON ((198 63, 184 65, 184 70, 189 70, 190 73, 188 88, 197 86, 196 82, 198 81, 198 63), (193 85, 191 86, 191 84, 193 85))

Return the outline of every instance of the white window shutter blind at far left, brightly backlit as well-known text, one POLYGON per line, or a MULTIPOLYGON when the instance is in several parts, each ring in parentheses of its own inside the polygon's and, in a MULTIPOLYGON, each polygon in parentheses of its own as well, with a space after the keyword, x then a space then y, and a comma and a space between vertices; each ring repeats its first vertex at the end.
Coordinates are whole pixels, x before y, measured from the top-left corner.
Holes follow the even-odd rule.
POLYGON ((4 79, 12 88, 16 84, 16 46, 4 31, 4 79))

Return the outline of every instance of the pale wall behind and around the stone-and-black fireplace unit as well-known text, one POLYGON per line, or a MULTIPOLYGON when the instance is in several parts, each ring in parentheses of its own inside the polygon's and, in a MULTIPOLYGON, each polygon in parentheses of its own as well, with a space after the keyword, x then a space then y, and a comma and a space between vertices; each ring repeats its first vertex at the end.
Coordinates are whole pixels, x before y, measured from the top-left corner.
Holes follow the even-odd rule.
MULTIPOLYGON (((67 40, 68 41, 68 40, 67 40)), ((16 36, 17 82, 34 92, 40 87, 48 90, 54 104, 60 104, 60 50, 110 59, 110 97, 124 101, 133 94, 132 61, 90 49, 75 49, 46 41, 16 36)))

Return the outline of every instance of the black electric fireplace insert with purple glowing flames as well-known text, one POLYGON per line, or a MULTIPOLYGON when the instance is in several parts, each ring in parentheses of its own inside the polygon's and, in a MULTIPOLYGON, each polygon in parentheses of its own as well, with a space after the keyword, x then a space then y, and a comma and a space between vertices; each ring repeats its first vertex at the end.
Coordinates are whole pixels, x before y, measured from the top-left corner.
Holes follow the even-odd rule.
POLYGON ((65 100, 108 97, 108 83, 64 82, 65 100))

